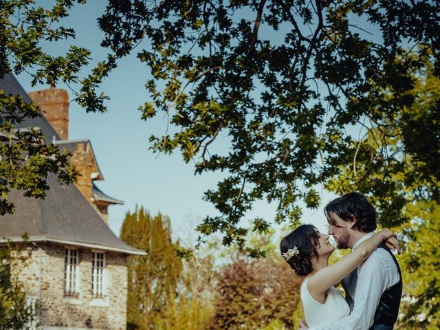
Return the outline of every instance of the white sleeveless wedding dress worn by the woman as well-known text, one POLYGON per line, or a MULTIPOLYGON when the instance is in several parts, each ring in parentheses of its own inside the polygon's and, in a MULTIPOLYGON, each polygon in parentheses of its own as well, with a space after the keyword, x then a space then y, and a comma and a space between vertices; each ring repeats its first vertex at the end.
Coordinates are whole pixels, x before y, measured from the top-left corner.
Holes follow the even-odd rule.
POLYGON ((327 300, 321 304, 310 295, 307 281, 309 278, 301 285, 301 301, 303 302, 304 318, 309 327, 318 327, 349 316, 350 307, 336 287, 329 289, 327 300))

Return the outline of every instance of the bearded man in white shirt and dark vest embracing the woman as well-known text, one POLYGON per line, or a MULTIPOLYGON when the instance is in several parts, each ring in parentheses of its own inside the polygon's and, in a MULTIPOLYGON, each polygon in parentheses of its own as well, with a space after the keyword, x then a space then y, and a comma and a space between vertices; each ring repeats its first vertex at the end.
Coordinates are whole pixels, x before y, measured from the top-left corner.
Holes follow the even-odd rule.
MULTIPOLYGON (((328 234, 333 236, 340 249, 355 250, 362 241, 373 236, 376 229, 377 213, 359 192, 334 199, 324 212, 329 223, 328 234)), ((310 329, 393 329, 399 314, 402 281, 399 264, 384 244, 341 283, 350 315, 310 329)), ((308 329, 303 323, 302 326, 302 329, 308 329)))

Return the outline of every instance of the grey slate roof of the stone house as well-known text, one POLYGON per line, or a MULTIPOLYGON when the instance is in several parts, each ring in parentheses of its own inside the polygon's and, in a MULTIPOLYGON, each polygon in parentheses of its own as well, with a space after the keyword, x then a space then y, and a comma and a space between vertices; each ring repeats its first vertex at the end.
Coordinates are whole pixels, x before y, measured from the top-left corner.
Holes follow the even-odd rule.
MULTIPOLYGON (((0 88, 7 94, 19 93, 23 99, 32 102, 12 75, 0 80, 0 88)), ((52 141, 52 136, 58 138, 43 117, 21 123, 21 127, 25 125, 39 126, 48 142, 52 141)), ((74 185, 62 185, 55 175, 47 177, 47 184, 50 189, 45 199, 23 197, 23 192, 19 190, 10 192, 9 200, 15 203, 16 211, 0 217, 0 241, 19 241, 26 233, 30 241, 52 241, 127 254, 145 254, 113 234, 74 185)))

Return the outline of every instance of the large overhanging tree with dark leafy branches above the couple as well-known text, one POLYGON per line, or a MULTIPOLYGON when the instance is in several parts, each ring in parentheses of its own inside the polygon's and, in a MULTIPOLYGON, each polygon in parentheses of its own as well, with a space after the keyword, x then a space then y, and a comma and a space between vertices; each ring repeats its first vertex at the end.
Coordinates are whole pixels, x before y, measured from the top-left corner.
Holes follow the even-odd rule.
POLYGON ((254 201, 276 201, 275 221, 298 223, 298 202, 316 208, 316 186, 345 166, 355 168, 347 179, 377 197, 384 225, 406 221, 402 190, 416 178, 439 199, 440 105, 427 117, 404 114, 415 102, 412 72, 430 59, 439 76, 439 10, 428 0, 125 0, 110 1, 99 25, 112 58, 137 52, 151 69, 142 118, 162 111, 174 127, 151 137, 153 151, 180 149, 196 173, 226 173, 205 195, 218 215, 198 230, 242 246, 240 221, 254 201), (388 153, 389 126, 417 159, 404 186, 389 179, 405 166, 388 153), (380 148, 358 143, 362 127, 380 148), (230 148, 216 145, 222 135, 230 148))

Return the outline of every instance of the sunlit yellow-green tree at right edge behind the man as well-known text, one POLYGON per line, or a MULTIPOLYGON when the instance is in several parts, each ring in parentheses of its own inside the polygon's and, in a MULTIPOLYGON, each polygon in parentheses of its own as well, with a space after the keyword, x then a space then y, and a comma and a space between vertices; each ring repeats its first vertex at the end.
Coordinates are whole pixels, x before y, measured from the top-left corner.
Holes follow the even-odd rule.
MULTIPOLYGON (((417 55, 411 56, 419 61, 417 55)), ((404 298, 398 320, 401 329, 437 329, 440 326, 437 317, 440 283, 436 272, 439 249, 432 244, 435 237, 439 237, 440 225, 440 181, 432 172, 439 168, 438 164, 434 164, 438 157, 433 155, 440 151, 440 79, 430 61, 424 61, 422 67, 411 72, 414 88, 408 91, 408 95, 413 102, 396 111, 395 120, 388 120, 384 131, 367 131, 364 139, 356 142, 360 150, 357 162, 344 167, 342 175, 327 184, 327 188, 341 194, 362 188, 372 191, 373 187, 382 189, 393 184, 404 197, 404 203, 395 210, 390 209, 387 214, 392 218, 401 213, 408 219, 395 227, 403 248, 399 257, 404 280, 404 298), (384 142, 376 138, 378 135, 385 136, 384 142), (406 144, 404 139, 412 140, 411 144, 406 144), (386 148, 391 170, 369 173, 369 155, 381 148, 386 148), (414 148, 419 149, 418 154, 412 151, 414 148), (426 157, 422 152, 426 152, 426 157), (357 177, 365 179, 358 180, 357 177)), ((370 199, 380 205, 391 203, 392 197, 371 195, 370 199)), ((382 224, 391 226, 396 223, 388 221, 382 224)))

